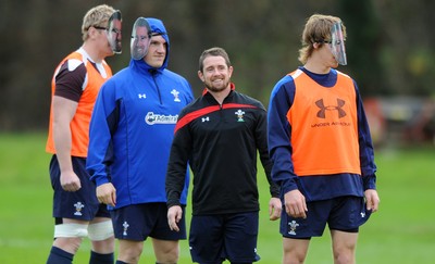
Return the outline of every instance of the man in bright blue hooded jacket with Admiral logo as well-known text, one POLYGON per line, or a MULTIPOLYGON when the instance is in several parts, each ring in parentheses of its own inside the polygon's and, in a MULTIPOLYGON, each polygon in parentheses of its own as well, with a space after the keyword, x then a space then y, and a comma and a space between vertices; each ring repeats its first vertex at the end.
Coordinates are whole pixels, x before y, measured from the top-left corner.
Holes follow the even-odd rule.
MULTIPOLYGON (((169 51, 163 23, 137 18, 129 66, 102 86, 92 112, 87 168, 111 212, 116 263, 138 263, 148 237, 157 263, 176 263, 178 240, 186 239, 184 219, 181 232, 167 225, 164 185, 178 113, 194 95, 184 77, 166 68, 169 51)), ((183 209, 188 180, 186 171, 183 209)))

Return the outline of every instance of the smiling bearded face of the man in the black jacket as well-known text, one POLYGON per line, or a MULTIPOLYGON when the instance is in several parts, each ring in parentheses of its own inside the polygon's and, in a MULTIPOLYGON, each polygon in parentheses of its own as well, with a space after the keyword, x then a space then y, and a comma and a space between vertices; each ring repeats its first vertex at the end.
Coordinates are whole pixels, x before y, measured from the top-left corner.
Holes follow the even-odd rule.
POLYGON ((229 87, 233 66, 228 67, 224 58, 210 55, 202 64, 202 72, 199 71, 198 76, 210 91, 219 92, 229 87))

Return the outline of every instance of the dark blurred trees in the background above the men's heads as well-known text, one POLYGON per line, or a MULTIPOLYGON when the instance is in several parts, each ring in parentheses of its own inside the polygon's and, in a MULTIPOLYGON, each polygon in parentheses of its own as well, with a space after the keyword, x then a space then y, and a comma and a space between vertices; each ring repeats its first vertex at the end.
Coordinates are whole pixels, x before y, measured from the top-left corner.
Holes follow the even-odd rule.
MULTIPOLYGON (((55 63, 80 45, 80 15, 97 0, 3 0, 0 3, 0 131, 47 129, 50 78, 55 63)), ((197 58, 221 46, 234 58, 240 91, 269 103, 273 80, 299 64, 304 20, 312 13, 340 16, 351 35, 346 71, 366 96, 432 96, 435 78, 435 24, 431 0, 107 0, 123 13, 123 28, 134 18, 165 21, 171 38, 169 67, 186 76, 196 95, 197 58), (281 72, 279 72, 281 71, 281 72), (284 72, 283 72, 284 71, 284 72)), ((128 29, 123 54, 109 59, 114 72, 129 60, 128 29)))

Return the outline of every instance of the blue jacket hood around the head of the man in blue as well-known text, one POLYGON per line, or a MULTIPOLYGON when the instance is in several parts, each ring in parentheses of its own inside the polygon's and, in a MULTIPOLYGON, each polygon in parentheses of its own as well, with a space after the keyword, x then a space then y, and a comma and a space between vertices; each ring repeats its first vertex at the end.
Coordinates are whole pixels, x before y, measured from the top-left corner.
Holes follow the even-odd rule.
POLYGON ((163 70, 165 70, 167 67, 167 61, 170 58, 170 38, 167 36, 166 28, 164 27, 163 22, 161 20, 152 18, 152 17, 147 17, 146 20, 151 28, 151 35, 152 36, 160 35, 164 38, 164 40, 166 40, 166 43, 167 43, 166 58, 164 59, 162 66, 158 67, 158 68, 148 65, 148 63, 146 63, 144 61, 144 59, 141 59, 141 60, 133 60, 132 59, 129 62, 129 65, 132 67, 138 67, 139 71, 150 72, 150 71, 154 70, 157 72, 162 72, 163 70))

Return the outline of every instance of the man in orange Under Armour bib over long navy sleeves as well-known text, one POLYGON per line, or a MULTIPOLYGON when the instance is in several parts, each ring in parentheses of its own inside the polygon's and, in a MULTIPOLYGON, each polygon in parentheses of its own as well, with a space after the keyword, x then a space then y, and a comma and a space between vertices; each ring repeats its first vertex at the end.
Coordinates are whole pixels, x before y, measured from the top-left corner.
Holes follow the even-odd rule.
POLYGON ((355 263, 359 227, 377 211, 376 165, 356 81, 346 65, 340 18, 312 15, 303 66, 275 85, 269 103, 272 178, 281 186, 283 263, 303 263, 311 237, 331 230, 334 263, 355 263))

